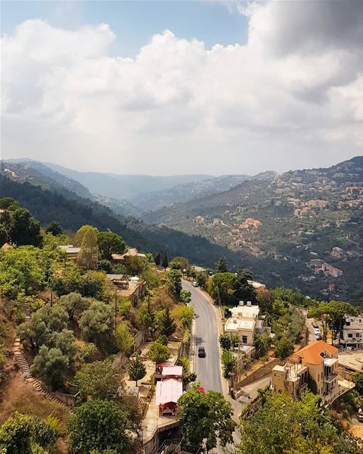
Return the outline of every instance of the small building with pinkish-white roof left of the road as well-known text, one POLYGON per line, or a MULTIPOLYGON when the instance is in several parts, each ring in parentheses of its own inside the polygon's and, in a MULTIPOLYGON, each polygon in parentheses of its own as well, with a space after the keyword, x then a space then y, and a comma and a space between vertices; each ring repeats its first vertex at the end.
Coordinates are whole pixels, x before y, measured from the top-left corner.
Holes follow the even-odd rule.
POLYGON ((156 382, 156 404, 163 415, 174 415, 179 397, 183 394, 183 367, 163 365, 161 375, 162 380, 156 382))

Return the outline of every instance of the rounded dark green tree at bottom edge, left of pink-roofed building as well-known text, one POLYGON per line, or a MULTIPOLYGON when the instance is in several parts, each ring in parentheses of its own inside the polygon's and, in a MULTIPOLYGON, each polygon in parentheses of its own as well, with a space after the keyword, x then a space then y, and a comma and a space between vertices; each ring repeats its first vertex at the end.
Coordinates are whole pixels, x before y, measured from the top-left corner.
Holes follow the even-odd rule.
POLYGON ((91 400, 76 408, 69 423, 70 454, 111 452, 127 454, 130 421, 113 402, 91 400))

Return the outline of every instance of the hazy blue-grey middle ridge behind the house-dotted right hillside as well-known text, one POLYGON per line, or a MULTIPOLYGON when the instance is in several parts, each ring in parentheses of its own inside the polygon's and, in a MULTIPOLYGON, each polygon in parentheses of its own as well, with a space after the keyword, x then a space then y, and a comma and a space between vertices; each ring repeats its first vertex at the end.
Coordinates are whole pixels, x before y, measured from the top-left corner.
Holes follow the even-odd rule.
POLYGON ((177 184, 167 190, 138 194, 130 197, 130 202, 143 211, 155 211, 163 206, 169 206, 176 202, 187 202, 203 195, 216 194, 226 191, 241 182, 250 179, 271 179, 277 175, 275 172, 262 172, 257 175, 221 175, 203 179, 198 182, 177 184))

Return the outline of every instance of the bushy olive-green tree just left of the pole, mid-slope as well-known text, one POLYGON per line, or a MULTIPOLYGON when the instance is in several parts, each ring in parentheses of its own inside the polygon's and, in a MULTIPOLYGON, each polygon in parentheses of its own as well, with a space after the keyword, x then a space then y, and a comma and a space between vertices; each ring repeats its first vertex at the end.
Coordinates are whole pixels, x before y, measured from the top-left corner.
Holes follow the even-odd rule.
POLYGON ((113 311, 101 301, 94 301, 79 320, 79 327, 85 341, 93 342, 103 348, 109 341, 113 328, 113 311))

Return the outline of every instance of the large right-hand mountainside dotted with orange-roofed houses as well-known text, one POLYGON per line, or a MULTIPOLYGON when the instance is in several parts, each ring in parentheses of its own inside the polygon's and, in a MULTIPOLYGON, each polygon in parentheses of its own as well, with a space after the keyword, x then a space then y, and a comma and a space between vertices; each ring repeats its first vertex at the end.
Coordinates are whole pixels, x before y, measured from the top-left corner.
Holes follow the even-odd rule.
POLYGON ((267 283, 311 297, 363 300, 362 156, 245 181, 143 220, 242 253, 267 283))

